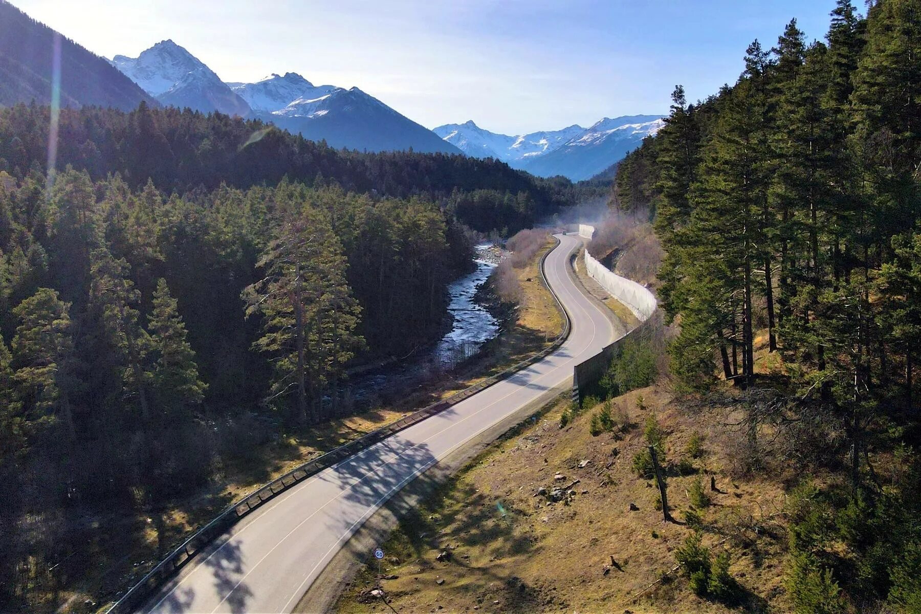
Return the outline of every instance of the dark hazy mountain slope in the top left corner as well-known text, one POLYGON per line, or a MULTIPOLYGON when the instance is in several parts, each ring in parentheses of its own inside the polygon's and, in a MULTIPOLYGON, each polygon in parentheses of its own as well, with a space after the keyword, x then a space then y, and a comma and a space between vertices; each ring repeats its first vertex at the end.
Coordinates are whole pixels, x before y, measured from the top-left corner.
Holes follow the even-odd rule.
POLYGON ((130 110, 142 100, 152 102, 143 89, 104 58, 0 0, 0 105, 31 100, 49 104, 56 57, 60 57, 62 107, 97 105, 130 110))

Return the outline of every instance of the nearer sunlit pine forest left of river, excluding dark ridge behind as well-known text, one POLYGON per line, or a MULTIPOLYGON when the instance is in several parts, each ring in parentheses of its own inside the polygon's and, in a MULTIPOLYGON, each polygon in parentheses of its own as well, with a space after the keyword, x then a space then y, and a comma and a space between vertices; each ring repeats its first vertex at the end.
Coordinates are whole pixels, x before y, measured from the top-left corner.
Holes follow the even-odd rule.
POLYGON ((417 198, 0 172, 4 590, 23 589, 24 560, 75 547, 64 507, 156 506, 252 443, 205 424, 351 411, 345 368, 437 338, 469 258, 417 198), (26 514, 66 535, 35 542, 26 514))

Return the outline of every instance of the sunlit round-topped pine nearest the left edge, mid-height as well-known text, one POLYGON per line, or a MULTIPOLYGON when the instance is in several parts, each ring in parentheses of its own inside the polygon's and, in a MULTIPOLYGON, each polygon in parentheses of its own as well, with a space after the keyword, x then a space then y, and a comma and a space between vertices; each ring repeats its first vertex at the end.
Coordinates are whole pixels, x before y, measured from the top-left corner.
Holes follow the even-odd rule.
POLYGON ((76 436, 71 393, 73 339, 70 305, 56 291, 39 290, 13 309, 19 320, 13 338, 14 376, 25 421, 33 426, 59 417, 71 439, 76 436))

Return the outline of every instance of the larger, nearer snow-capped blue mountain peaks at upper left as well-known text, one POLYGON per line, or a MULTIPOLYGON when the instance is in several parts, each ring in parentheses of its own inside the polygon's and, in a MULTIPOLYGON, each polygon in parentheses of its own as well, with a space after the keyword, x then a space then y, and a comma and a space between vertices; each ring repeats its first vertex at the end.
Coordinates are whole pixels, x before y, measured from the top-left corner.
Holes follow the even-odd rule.
POLYGON ((111 64, 167 106, 260 119, 333 147, 461 153, 357 87, 314 86, 297 73, 225 83, 173 41, 157 42, 136 58, 116 55, 111 64))

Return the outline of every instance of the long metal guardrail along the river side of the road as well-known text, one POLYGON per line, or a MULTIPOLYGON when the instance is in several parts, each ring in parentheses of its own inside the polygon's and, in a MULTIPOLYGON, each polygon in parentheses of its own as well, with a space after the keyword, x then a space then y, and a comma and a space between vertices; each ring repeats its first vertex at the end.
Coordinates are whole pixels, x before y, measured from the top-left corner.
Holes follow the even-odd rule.
POLYGON ((440 400, 419 411, 414 411, 407 416, 403 416, 394 423, 382 426, 379 429, 359 437, 355 441, 333 448, 320 457, 309 460, 299 465, 297 468, 288 471, 285 475, 270 481, 258 491, 251 493, 238 503, 232 504, 214 520, 196 531, 191 538, 182 542, 179 548, 170 552, 166 559, 159 562, 156 567, 141 578, 140 582, 132 586, 127 593, 116 601, 112 607, 107 610, 107 614, 122 614, 134 611, 134 609, 141 606, 159 586, 163 585, 169 578, 178 573, 196 554, 204 550, 204 548, 214 542, 215 539, 224 535, 227 529, 237 524, 240 518, 250 514, 253 510, 272 499, 279 492, 286 491, 295 484, 320 473, 323 469, 329 469, 345 458, 349 458, 362 450, 366 450, 370 446, 374 446, 392 434, 399 433, 415 423, 420 423, 426 420, 426 418, 430 418, 441 411, 447 410, 450 406, 459 403, 461 400, 467 399, 484 388, 489 388, 493 384, 518 373, 520 370, 533 365, 559 349, 566 338, 569 337, 569 332, 572 330, 572 323, 569 319, 569 314, 566 313, 565 307, 563 307, 563 303, 560 302, 554 289, 547 283, 547 278, 543 271, 543 264, 547 259, 547 255, 560 245, 560 240, 558 238, 554 237, 554 241, 554 247, 547 249, 543 253, 539 266, 541 281, 547 289, 550 290, 550 294, 554 297, 556 308, 563 317, 563 330, 560 331, 560 334, 557 335, 550 346, 544 348, 541 352, 531 355, 517 365, 510 366, 505 371, 495 376, 487 377, 470 388, 464 388, 460 392, 451 395, 446 400, 440 400))

